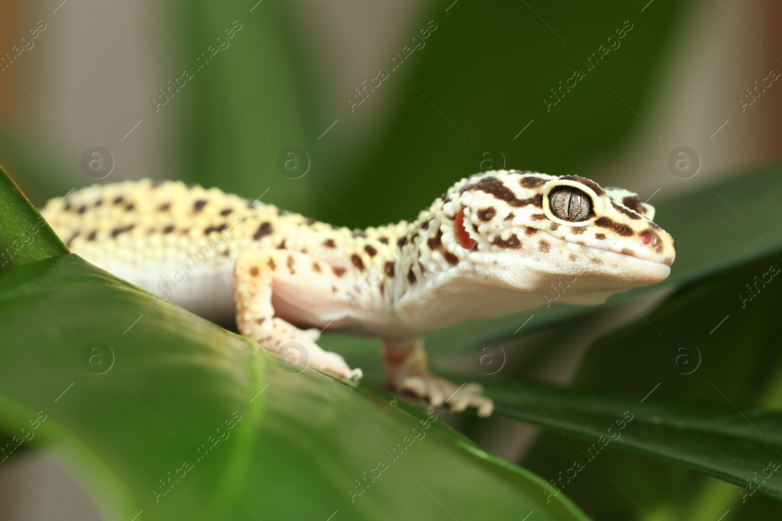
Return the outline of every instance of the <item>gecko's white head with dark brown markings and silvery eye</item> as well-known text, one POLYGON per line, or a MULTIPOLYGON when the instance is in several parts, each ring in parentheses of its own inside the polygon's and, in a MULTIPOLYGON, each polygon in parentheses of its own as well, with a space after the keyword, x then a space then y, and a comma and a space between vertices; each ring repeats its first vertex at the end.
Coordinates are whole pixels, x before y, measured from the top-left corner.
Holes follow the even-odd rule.
POLYGON ((481 173, 451 187, 442 209, 454 269, 524 291, 563 275, 580 279, 583 293, 648 286, 668 277, 676 255, 651 205, 584 177, 481 173))

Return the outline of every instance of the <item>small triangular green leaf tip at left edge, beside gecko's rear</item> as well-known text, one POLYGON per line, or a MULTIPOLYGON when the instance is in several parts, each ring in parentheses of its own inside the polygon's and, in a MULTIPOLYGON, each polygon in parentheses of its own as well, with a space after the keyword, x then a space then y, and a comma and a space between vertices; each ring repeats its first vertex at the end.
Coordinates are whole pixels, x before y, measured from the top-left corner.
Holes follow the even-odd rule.
POLYGON ((0 166, 0 269, 22 266, 68 249, 0 166))

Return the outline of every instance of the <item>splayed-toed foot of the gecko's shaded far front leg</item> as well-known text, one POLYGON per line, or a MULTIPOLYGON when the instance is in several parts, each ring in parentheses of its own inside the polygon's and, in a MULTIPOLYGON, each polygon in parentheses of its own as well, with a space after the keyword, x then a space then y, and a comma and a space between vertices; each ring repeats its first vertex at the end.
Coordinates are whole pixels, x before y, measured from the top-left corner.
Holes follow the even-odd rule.
POLYGON ((454 412, 462 412, 468 407, 478 409, 478 416, 486 418, 494 410, 494 402, 482 395, 480 384, 463 384, 457 387, 432 373, 406 376, 399 385, 400 391, 410 391, 419 398, 429 399, 429 407, 434 409, 447 403, 454 412))

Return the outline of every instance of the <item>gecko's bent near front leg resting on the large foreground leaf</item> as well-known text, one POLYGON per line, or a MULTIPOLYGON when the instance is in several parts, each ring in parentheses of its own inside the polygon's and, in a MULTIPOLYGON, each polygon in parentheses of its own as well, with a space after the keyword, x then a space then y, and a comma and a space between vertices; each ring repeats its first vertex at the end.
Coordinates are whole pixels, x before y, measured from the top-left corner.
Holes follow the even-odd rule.
POLYGON ((300 252, 265 249, 242 252, 234 268, 236 325, 239 333, 271 353, 282 355, 303 348, 300 362, 336 376, 360 379, 361 369, 350 369, 342 356, 324 351, 315 343, 320 337, 317 329, 302 330, 274 316, 273 291, 282 294, 281 301, 294 308, 300 306, 306 311, 313 303, 320 303, 339 311, 343 302, 332 296, 332 285, 324 275, 326 268, 331 269, 325 262, 300 252))

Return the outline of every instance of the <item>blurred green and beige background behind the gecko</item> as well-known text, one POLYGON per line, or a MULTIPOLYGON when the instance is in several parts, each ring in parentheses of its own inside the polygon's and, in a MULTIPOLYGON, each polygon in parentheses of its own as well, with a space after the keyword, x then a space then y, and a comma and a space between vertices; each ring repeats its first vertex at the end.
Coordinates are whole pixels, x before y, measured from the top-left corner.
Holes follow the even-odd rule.
MULTIPOLYGON (((501 168, 686 202, 779 159, 780 16, 770 0, 5 0, 0 164, 38 206, 152 177, 362 228, 501 168)), ((532 376, 567 383, 579 345, 532 376)), ((526 461, 536 430, 470 434, 548 476, 526 461)), ((59 519, 22 476, 100 519, 34 453, 0 468, 0 519, 59 519)))

